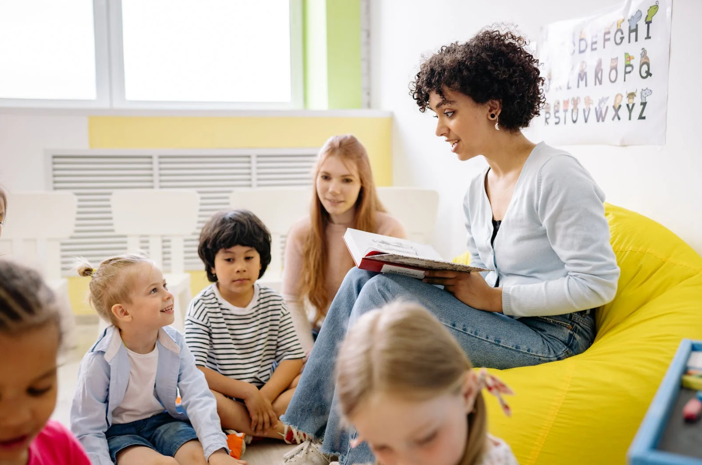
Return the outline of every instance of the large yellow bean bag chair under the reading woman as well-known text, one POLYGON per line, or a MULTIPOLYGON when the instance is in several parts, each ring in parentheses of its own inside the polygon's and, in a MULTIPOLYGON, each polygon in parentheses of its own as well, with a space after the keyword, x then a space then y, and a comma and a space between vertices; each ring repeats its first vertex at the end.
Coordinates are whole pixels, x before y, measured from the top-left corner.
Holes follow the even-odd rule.
POLYGON ((567 360, 493 370, 516 395, 510 418, 486 396, 489 429, 521 465, 625 464, 680 339, 702 339, 702 257, 647 217, 605 211, 621 277, 597 310, 595 342, 567 360))

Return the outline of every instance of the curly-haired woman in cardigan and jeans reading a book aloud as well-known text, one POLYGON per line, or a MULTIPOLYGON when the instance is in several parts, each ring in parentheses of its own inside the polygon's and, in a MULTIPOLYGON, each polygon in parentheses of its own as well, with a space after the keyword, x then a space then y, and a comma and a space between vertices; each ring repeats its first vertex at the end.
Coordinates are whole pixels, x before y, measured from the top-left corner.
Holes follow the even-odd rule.
POLYGON ((282 417, 324 443, 308 440, 287 464, 373 461, 368 445, 351 446, 355 432, 340 423, 329 360, 350 322, 397 297, 435 314, 478 367, 561 360, 595 339, 593 311, 614 298, 619 276, 604 194, 573 156, 522 134, 545 100, 526 44, 515 32, 484 29, 440 48, 411 83, 420 111, 435 114, 435 134, 458 159, 482 155, 488 163, 468 182, 463 210, 472 265, 494 271, 434 271, 419 281, 350 270, 282 417))

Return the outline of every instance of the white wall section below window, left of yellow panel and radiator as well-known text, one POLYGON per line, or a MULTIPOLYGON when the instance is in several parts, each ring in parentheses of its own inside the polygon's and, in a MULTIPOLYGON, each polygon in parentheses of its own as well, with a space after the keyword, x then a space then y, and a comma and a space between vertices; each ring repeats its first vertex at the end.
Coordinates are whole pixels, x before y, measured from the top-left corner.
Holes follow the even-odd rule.
POLYGON ((11 191, 46 189, 46 149, 87 149, 87 116, 0 114, 0 184, 11 191))

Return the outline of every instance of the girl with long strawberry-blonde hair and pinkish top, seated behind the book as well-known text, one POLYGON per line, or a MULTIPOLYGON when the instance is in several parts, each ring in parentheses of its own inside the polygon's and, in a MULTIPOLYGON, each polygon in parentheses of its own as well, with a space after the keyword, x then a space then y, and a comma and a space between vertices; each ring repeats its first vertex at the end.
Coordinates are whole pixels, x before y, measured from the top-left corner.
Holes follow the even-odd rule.
POLYGON ((285 248, 283 297, 296 317, 305 351, 312 348, 311 309, 317 327, 354 262, 343 243, 348 227, 403 237, 404 227, 380 203, 365 147, 350 134, 330 137, 314 166, 310 216, 289 231, 285 248))

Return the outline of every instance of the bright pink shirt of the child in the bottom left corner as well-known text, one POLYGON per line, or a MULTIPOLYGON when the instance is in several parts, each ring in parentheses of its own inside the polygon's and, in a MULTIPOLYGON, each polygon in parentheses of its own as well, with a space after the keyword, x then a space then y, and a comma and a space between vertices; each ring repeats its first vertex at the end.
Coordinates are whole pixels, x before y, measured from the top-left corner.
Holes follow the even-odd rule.
POLYGON ((91 465, 78 440, 65 426, 49 421, 29 445, 27 465, 91 465))

